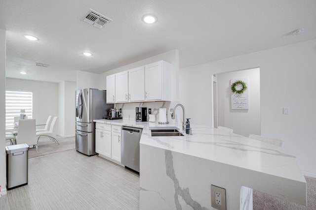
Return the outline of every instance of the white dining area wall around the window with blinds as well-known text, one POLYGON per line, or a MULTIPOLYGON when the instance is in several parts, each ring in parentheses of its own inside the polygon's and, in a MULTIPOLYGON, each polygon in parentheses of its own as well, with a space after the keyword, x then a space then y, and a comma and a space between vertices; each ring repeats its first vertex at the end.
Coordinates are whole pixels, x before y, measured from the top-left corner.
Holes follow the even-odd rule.
POLYGON ((46 123, 49 115, 58 116, 57 83, 6 78, 6 90, 33 92, 32 116, 33 119, 36 119, 36 123, 46 123))

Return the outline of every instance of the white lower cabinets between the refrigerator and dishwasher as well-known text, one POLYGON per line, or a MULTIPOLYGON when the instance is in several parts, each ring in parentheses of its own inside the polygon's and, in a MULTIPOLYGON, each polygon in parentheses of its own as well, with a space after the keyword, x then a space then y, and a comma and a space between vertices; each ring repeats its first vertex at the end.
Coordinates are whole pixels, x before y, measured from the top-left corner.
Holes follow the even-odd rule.
POLYGON ((95 151, 120 163, 121 126, 97 122, 95 128, 95 151))

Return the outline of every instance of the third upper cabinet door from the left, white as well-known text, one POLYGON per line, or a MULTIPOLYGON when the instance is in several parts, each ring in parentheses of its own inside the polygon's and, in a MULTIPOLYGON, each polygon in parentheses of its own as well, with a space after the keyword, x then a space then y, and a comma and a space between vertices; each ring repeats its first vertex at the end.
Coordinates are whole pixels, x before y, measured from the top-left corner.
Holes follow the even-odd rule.
POLYGON ((144 66, 129 70, 129 94, 130 101, 145 100, 145 75, 144 66))

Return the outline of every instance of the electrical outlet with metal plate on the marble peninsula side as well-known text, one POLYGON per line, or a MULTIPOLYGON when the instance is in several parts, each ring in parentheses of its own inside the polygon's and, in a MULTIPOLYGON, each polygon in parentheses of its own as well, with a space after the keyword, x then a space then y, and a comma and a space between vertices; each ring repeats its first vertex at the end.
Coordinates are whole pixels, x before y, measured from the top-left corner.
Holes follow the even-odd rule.
POLYGON ((211 184, 211 203, 217 210, 226 210, 226 190, 211 184))

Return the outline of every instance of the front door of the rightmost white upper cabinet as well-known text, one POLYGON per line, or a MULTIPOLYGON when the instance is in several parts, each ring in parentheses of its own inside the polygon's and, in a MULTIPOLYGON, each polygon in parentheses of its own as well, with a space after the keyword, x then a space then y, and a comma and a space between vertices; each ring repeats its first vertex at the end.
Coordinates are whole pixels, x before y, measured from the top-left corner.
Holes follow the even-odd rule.
POLYGON ((161 61, 145 65, 145 100, 161 100, 161 61))

